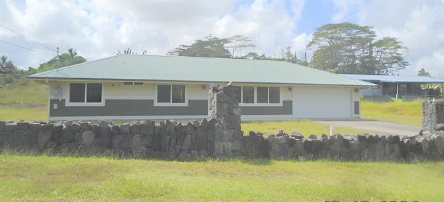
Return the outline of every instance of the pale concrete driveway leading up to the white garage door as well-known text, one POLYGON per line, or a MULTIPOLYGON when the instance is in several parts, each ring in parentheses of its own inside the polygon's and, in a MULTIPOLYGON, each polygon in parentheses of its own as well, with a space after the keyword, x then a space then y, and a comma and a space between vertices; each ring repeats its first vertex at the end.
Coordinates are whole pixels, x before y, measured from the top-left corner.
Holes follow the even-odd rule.
POLYGON ((334 127, 345 127, 381 135, 399 135, 412 136, 419 134, 420 127, 412 127, 407 125, 399 125, 391 122, 382 122, 377 120, 350 119, 350 120, 315 120, 316 122, 332 125, 334 127))

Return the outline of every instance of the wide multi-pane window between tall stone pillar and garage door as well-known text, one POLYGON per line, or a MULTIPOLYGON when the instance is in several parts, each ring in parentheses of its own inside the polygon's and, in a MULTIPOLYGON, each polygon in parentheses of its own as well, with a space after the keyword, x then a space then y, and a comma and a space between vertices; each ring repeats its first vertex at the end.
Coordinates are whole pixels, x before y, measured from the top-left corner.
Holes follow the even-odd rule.
POLYGON ((243 104, 280 104, 280 87, 234 86, 239 89, 239 101, 243 104))

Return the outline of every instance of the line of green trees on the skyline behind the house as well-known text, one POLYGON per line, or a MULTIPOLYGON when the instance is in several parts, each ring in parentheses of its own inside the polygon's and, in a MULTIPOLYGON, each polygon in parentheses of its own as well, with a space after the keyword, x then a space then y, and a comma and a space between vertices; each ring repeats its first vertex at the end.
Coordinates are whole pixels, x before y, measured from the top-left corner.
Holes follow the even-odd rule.
MULTIPOLYGON (((291 46, 278 50, 278 57, 267 57, 264 53, 251 51, 256 46, 248 36, 233 35, 228 38, 219 38, 208 35, 198 39, 191 45, 180 44, 167 51, 167 55, 191 57, 222 57, 233 59, 271 59, 284 60, 304 66, 311 66, 332 73, 377 74, 395 75, 409 65, 407 55, 409 49, 395 37, 377 37, 370 26, 341 23, 326 24, 316 28, 316 32, 306 48, 313 50, 311 58, 307 58, 307 51, 293 51, 291 46)), ((130 48, 117 50, 119 54, 137 54, 130 48)), ((146 54, 146 50, 142 54, 146 54)), ((38 68, 28 67, 28 70, 18 69, 5 55, 1 57, 0 82, 10 83, 20 77, 49 71, 57 67, 86 62, 87 59, 69 48, 67 53, 53 57, 48 62, 40 64, 38 68)), ((418 72, 420 76, 431 76, 425 69, 418 72)))

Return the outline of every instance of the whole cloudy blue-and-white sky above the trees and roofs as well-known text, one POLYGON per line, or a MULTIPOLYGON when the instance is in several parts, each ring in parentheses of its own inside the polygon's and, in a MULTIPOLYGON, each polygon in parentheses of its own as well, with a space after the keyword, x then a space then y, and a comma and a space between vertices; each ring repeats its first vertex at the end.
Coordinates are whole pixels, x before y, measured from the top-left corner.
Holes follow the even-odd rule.
POLYGON ((130 48, 166 55, 208 35, 250 37, 244 51, 298 54, 325 24, 371 26, 378 38, 409 48, 409 66, 444 79, 444 0, 0 0, 0 55, 19 68, 37 68, 74 48, 87 61, 130 48))

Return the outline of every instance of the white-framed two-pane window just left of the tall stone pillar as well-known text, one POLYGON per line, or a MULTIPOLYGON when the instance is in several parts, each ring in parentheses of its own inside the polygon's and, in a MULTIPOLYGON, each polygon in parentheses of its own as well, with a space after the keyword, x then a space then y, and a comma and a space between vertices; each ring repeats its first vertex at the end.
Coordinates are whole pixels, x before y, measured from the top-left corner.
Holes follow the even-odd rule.
POLYGON ((157 103, 185 104, 185 85, 157 85, 157 103))

